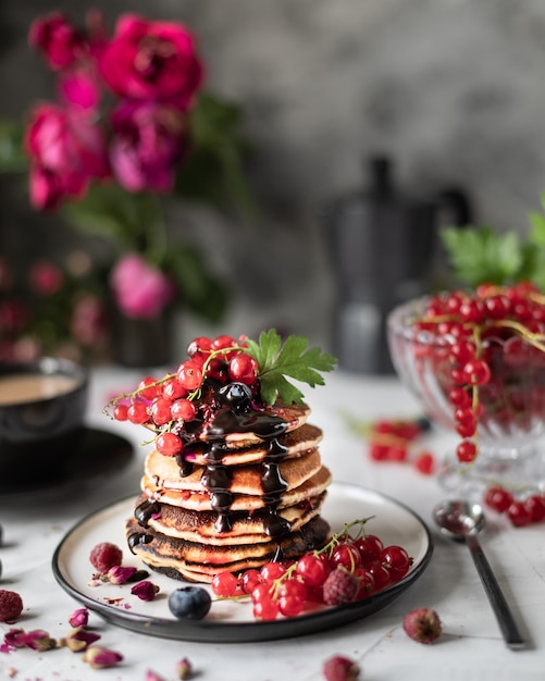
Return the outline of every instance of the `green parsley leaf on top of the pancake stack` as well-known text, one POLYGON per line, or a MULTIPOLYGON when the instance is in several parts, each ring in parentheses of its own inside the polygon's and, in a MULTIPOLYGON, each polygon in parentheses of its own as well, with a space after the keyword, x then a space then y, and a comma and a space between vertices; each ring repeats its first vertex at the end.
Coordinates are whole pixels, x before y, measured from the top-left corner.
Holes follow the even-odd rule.
POLYGON ((259 343, 248 339, 248 354, 259 364, 261 398, 274 405, 280 398, 286 405, 302 404, 304 395, 286 376, 311 387, 324 385, 320 372, 331 371, 337 360, 319 348, 309 348, 305 336, 288 336, 284 344, 274 329, 261 332, 259 343))

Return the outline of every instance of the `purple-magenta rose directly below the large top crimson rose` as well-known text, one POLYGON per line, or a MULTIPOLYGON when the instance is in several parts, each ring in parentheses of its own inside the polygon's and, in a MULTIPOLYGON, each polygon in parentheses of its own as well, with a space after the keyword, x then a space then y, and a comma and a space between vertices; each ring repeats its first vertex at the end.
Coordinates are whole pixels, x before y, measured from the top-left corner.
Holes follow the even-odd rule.
POLYGON ((112 113, 110 163, 128 191, 170 191, 186 147, 185 113, 156 102, 124 102, 112 113))

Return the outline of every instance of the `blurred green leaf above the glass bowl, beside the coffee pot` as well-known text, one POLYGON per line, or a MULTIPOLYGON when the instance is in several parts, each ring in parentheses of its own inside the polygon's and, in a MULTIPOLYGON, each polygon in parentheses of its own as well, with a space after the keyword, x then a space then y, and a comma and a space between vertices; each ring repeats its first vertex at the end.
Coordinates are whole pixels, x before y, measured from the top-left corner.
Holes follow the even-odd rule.
POLYGON ((515 232, 500 235, 490 226, 444 227, 441 238, 454 274, 472 287, 484 282, 505 284, 518 281, 522 267, 528 264, 515 232))

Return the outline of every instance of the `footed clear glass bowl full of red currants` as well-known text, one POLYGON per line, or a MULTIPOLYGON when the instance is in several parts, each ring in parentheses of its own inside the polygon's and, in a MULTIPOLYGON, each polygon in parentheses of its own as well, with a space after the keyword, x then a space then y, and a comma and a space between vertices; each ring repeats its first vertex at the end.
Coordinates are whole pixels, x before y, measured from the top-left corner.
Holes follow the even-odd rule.
POLYGON ((545 485, 545 295, 481 285, 395 308, 388 346, 428 416, 458 436, 438 473, 447 488, 545 485))

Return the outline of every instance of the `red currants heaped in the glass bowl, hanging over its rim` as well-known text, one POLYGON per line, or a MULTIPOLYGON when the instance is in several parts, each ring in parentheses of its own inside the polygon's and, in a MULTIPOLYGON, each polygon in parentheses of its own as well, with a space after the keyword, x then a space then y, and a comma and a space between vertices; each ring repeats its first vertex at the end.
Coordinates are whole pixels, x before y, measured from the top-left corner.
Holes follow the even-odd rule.
POLYGON ((543 391, 529 395, 524 385, 545 363, 545 299, 532 284, 433 296, 413 330, 436 339, 417 343, 414 351, 431 366, 451 406, 462 438, 460 462, 478 455, 478 423, 509 433, 528 428, 532 413, 543 410, 543 391))

